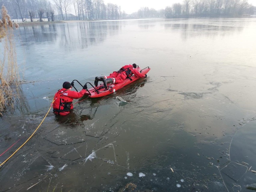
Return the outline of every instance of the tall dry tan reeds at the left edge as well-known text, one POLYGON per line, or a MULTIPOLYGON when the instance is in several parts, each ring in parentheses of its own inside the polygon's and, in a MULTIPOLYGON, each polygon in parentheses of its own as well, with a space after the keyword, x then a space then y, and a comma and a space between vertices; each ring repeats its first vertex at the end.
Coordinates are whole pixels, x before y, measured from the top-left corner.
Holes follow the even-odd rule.
POLYGON ((20 76, 17 65, 16 49, 14 44, 13 27, 17 23, 11 21, 4 5, 1 9, 0 20, 0 116, 7 108, 14 108, 14 102, 19 97, 20 76))

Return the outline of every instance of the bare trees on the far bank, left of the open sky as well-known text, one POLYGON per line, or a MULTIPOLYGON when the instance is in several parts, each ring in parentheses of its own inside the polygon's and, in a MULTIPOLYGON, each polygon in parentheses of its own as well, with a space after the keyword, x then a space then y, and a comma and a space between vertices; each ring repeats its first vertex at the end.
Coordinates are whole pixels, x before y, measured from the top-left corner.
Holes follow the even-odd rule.
POLYGON ((8 10, 11 18, 21 19, 22 22, 35 18, 47 18, 48 21, 69 20, 71 7, 75 10, 72 20, 113 20, 122 19, 125 12, 121 12, 118 5, 104 4, 103 0, 0 0, 8 10), (58 17, 57 17, 58 15, 58 17))

